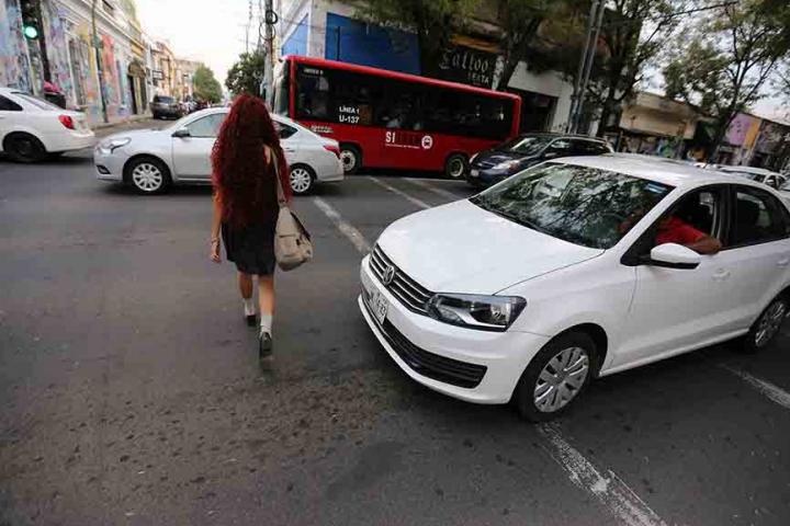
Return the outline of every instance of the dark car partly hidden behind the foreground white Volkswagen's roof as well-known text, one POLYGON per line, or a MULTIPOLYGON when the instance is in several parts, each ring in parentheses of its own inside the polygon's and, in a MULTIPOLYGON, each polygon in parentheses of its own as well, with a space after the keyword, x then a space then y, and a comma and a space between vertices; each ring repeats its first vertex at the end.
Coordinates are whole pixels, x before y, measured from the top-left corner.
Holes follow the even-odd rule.
POLYGON ((473 186, 490 186, 549 159, 600 156, 611 151, 607 141, 595 137, 524 134, 473 156, 466 180, 473 186))

